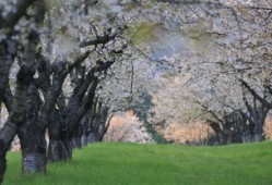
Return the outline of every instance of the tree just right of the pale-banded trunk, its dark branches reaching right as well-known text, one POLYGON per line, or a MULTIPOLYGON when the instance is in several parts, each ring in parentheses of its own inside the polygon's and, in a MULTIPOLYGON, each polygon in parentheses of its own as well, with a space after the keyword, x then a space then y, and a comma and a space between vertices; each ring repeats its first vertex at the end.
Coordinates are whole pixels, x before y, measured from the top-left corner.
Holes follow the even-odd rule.
MULTIPOLYGON (((72 4, 72 8, 73 5, 74 4, 72 4)), ((63 15, 58 15, 61 17, 71 12, 68 11, 64 12, 63 15)), ((83 15, 83 17, 85 15, 83 15)), ((68 25, 62 25, 62 27, 70 26, 69 24, 72 23, 68 20, 67 24, 68 25)), ((54 24, 51 26, 54 26, 54 24)), ((48 158, 50 161, 66 160, 72 157, 71 144, 75 135, 74 131, 78 131, 81 120, 92 108, 95 91, 99 83, 99 76, 103 76, 113 64, 118 62, 116 55, 120 55, 126 46, 126 42, 119 42, 120 45, 118 45, 118 47, 115 46, 115 42, 121 41, 120 36, 125 30, 121 24, 116 25, 115 30, 105 30, 104 28, 98 28, 95 24, 87 26, 90 27, 85 27, 84 30, 88 30, 90 34, 94 33, 93 38, 84 40, 86 33, 83 33, 83 40, 79 45, 75 45, 80 47, 80 50, 84 50, 83 53, 81 53, 76 47, 71 50, 60 51, 60 53, 56 52, 57 57, 52 63, 47 61, 42 65, 42 67, 46 69, 40 70, 40 77, 37 79, 38 82, 43 82, 45 78, 47 79, 47 82, 38 84, 38 88, 40 88, 44 94, 44 102, 37 119, 38 122, 42 123, 39 124, 39 131, 42 133, 44 133, 48 126, 48 158), (98 29, 104 29, 105 32, 98 29), (52 78, 51 82, 50 78, 52 78), (63 88, 69 81, 71 81, 72 87, 70 88, 72 90, 67 95, 63 88)), ((79 30, 78 33, 80 33, 80 35, 76 35, 78 33, 72 29, 72 37, 81 36, 83 27, 78 28, 76 30, 79 30)), ((58 27, 51 27, 51 29, 50 32, 56 32, 58 27)), ((48 45, 58 45, 58 35, 55 34, 55 39, 48 40, 48 45)), ((38 136, 44 137, 44 134, 38 134, 38 136)))

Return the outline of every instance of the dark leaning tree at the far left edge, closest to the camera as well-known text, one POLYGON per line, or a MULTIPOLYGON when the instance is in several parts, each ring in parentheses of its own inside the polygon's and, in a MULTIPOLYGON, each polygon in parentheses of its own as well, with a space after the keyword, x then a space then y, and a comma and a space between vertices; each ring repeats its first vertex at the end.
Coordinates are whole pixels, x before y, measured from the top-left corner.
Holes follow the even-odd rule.
MULTIPOLYGON (((25 36, 24 48, 23 48, 23 58, 20 61, 21 67, 16 75, 16 87, 14 92, 14 98, 12 101, 11 114, 7 123, 0 133, 0 143, 1 143, 1 174, 0 182, 2 182, 3 173, 5 170, 5 152, 15 136, 19 127, 25 122, 25 110, 26 110, 26 99, 27 99, 27 89, 29 87, 31 81, 35 73, 35 53, 38 41, 38 24, 43 21, 44 17, 44 7, 43 2, 38 2, 36 4, 34 1, 17 1, 15 4, 11 4, 11 8, 15 7, 15 11, 10 11, 9 9, 4 9, 7 14, 1 14, 1 32, 4 29, 8 30, 7 34, 1 35, 1 67, 4 72, 1 73, 1 99, 4 97, 4 90, 9 86, 8 77, 11 64, 17 52, 17 44, 22 44, 19 40, 14 39, 17 35, 15 25, 17 22, 26 14, 26 10, 28 7, 34 5, 33 18, 34 26, 29 29, 26 29, 26 33, 23 33, 25 36), (37 26, 37 27, 36 27, 37 26)), ((2 4, 1 4, 2 5, 2 4)), ((1 7, 3 9, 3 7, 1 7)), ((19 59, 20 60, 20 59, 19 59)), ((7 102, 7 101, 4 101, 7 102)), ((10 106, 7 106, 9 108, 10 106)))

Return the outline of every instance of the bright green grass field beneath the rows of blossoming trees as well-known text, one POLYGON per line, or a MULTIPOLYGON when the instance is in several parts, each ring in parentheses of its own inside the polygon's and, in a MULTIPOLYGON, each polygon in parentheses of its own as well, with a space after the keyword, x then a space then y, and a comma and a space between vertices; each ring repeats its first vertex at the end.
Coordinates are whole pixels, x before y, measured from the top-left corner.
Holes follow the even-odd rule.
POLYGON ((3 185, 271 185, 272 143, 222 147, 94 144, 46 174, 22 175, 9 153, 3 185))

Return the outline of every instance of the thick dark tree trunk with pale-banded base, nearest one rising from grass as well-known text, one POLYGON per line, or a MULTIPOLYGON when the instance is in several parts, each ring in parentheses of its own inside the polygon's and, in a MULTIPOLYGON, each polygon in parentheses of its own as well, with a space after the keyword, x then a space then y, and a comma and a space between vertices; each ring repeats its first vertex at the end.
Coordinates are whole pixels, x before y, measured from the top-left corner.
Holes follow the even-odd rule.
POLYGON ((24 173, 46 171, 45 130, 38 123, 42 100, 34 83, 28 88, 26 121, 19 130, 24 173))

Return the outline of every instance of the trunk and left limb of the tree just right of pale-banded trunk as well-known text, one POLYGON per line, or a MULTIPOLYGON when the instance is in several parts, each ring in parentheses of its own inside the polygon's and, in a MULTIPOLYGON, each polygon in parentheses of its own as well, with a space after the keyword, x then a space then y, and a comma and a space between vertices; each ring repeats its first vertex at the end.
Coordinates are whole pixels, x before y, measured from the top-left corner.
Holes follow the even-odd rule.
MULTIPOLYGON (((61 97, 62 84, 68 74, 81 62, 83 62, 90 52, 85 52, 80 55, 72 64, 66 67, 66 63, 60 61, 57 64, 54 73, 52 84, 45 88, 45 104, 40 114, 40 122, 43 127, 48 126, 49 131, 49 146, 48 146, 48 160, 49 161, 63 161, 72 157, 72 138, 69 137, 69 130, 67 123, 62 119, 63 116, 71 116, 73 114, 63 115, 60 111, 57 111, 55 106, 58 104, 61 111, 64 111, 64 102, 59 102, 58 99, 61 97), (58 113, 54 112, 57 111, 58 113), (55 114, 55 115, 54 115, 55 114), (48 116, 49 115, 49 116, 48 116), (49 119, 52 116, 55 119, 49 119)), ((43 71, 42 71, 43 72, 43 71)), ((75 108, 76 109, 76 108, 75 108)))

